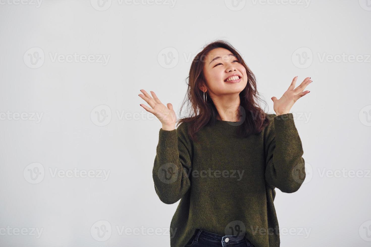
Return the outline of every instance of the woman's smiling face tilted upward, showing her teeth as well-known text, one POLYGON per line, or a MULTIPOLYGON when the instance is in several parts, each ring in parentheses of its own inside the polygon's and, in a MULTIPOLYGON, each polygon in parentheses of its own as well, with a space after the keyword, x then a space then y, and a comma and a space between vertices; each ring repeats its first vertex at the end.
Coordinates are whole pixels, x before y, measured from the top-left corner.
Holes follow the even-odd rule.
MULTIPOLYGON (((236 56, 224 48, 211 50, 205 59, 203 73, 206 79, 207 93, 211 96, 239 94, 247 84, 245 67, 236 56), (235 80, 227 81, 230 76, 235 80)), ((205 91, 206 88, 201 90, 205 91)))

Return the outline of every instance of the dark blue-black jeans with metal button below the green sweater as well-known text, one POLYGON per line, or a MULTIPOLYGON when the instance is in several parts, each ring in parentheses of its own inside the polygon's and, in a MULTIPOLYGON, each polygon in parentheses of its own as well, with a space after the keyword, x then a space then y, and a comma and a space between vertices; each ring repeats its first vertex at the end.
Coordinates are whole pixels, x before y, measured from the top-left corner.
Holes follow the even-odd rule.
POLYGON ((219 235, 202 229, 197 229, 184 247, 254 247, 245 237, 219 235))

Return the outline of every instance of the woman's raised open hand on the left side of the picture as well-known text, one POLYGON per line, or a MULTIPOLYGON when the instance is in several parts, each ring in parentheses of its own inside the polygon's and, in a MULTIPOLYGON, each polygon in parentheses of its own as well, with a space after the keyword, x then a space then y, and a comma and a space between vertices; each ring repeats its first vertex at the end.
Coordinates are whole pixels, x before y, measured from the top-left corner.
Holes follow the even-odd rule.
POLYGON ((163 130, 174 130, 177 116, 173 110, 173 105, 171 103, 167 103, 167 106, 162 104, 153 91, 150 91, 153 98, 144 89, 140 91, 144 95, 138 94, 138 96, 144 99, 152 109, 144 104, 140 104, 140 106, 154 114, 161 121, 163 130))

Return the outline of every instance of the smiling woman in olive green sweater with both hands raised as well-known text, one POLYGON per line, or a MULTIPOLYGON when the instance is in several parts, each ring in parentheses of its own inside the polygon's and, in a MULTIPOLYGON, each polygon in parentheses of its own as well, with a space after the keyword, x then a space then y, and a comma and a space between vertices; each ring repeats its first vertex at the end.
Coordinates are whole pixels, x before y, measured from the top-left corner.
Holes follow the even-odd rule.
POLYGON ((140 105, 162 123, 155 191, 166 204, 181 199, 170 224, 171 247, 280 245, 275 188, 293 193, 305 179, 302 143, 289 111, 312 81, 295 88, 297 79, 280 99, 271 98, 276 114, 265 113, 256 103, 254 74, 232 45, 217 40, 191 64, 191 114, 177 129, 172 104, 140 90, 151 108, 140 105))

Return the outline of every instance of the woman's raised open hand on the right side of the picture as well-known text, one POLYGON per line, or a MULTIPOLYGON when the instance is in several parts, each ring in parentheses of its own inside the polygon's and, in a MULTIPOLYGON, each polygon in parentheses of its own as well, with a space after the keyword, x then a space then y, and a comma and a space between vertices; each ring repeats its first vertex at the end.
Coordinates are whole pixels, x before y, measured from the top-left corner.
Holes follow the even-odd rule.
POLYGON ((300 99, 310 92, 308 90, 303 92, 303 90, 306 88, 306 86, 308 86, 309 83, 312 82, 312 80, 310 80, 311 77, 305 78, 305 80, 303 80, 303 82, 298 87, 296 87, 296 89, 294 89, 297 79, 298 77, 295 76, 288 90, 282 95, 279 100, 276 97, 271 98, 273 100, 273 110, 276 112, 277 116, 290 113, 290 109, 296 102, 296 100, 300 99))

